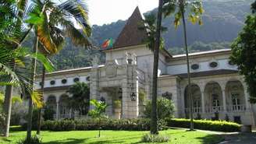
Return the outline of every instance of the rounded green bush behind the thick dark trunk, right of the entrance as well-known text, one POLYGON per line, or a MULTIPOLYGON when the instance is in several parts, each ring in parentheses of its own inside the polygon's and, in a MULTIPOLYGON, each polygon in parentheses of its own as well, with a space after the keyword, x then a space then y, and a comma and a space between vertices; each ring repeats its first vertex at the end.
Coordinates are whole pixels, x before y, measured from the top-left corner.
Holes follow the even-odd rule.
MULTIPOLYGON (((151 101, 148 101, 145 107, 144 115, 151 118, 151 101)), ((161 98, 157 100, 158 119, 172 118, 174 114, 174 105, 172 100, 161 98)))

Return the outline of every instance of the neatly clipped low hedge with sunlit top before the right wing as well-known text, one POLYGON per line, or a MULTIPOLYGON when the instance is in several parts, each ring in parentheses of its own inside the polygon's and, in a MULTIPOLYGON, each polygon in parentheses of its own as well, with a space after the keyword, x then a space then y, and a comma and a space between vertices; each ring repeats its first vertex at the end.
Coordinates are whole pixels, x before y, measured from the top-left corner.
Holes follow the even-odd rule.
MULTIPOLYGON (((165 118, 167 126, 190 128, 190 119, 183 118, 165 118)), ((194 120, 194 128, 219 131, 219 132, 240 132, 240 125, 228 121, 210 121, 210 120, 194 120)))

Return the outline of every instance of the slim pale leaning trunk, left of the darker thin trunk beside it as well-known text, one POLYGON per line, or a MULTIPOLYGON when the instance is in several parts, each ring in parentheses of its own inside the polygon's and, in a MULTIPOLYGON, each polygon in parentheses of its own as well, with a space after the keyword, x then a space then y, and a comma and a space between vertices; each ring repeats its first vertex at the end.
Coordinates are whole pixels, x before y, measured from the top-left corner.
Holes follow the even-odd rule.
MULTIPOLYGON (((38 37, 35 38, 35 43, 34 43, 34 50, 33 50, 33 52, 35 54, 37 54, 37 47, 38 47, 38 37)), ((36 68, 37 68, 37 59, 33 58, 32 65, 31 65, 31 77, 30 77, 30 86, 31 86, 31 89, 32 89, 32 93, 34 93, 34 76, 35 76, 35 73, 36 73, 36 68)), ((33 101, 32 101, 32 97, 29 96, 28 100, 29 100, 29 105, 28 105, 29 107, 28 107, 28 121, 27 121, 27 141, 30 142, 30 139, 31 139, 31 129, 32 129, 32 115, 33 115, 33 101)))

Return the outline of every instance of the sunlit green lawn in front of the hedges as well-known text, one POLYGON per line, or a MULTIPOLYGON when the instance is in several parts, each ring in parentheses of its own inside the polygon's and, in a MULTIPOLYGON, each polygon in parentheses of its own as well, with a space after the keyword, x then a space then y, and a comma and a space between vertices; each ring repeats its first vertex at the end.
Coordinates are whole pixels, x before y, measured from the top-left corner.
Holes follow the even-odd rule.
MULTIPOLYGON (((70 131, 70 132, 41 132, 44 144, 98 144, 98 143, 133 143, 142 144, 141 136, 147 132, 134 131, 101 131, 101 138, 98 138, 98 131, 70 131)), ((187 132, 183 129, 169 129, 160 132, 168 135, 172 144, 212 144, 220 142, 222 137, 205 132, 187 132)), ((10 137, 0 137, 0 143, 14 144, 25 138, 26 132, 11 132, 10 137)))

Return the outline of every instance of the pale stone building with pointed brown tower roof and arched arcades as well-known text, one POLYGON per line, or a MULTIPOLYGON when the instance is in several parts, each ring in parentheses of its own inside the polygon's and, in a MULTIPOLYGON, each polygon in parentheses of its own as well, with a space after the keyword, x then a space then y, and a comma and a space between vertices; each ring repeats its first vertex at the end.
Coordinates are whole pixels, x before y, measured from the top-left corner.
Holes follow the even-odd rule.
MULTIPOLYGON (((114 100, 121 100, 121 118, 138 118, 144 109, 139 100, 139 90, 151 99, 153 53, 143 44, 145 31, 137 29, 141 22, 139 9, 135 9, 123 31, 106 54, 105 65, 75 68, 46 74, 44 101, 55 108, 56 118, 69 118, 66 93, 76 81, 89 83, 91 99, 105 100, 110 117, 119 117, 112 107, 114 100)), ((254 125, 256 106, 248 102, 247 86, 236 65, 229 61, 230 50, 192 53, 190 70, 192 79, 194 118, 229 118, 245 125, 254 125)), ((40 82, 40 76, 37 82, 40 82)), ((39 88, 37 84, 37 88, 39 88)), ((172 55, 161 50, 158 66, 158 97, 169 97, 175 106, 176 118, 188 118, 187 61, 185 54, 172 55)))

